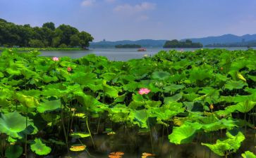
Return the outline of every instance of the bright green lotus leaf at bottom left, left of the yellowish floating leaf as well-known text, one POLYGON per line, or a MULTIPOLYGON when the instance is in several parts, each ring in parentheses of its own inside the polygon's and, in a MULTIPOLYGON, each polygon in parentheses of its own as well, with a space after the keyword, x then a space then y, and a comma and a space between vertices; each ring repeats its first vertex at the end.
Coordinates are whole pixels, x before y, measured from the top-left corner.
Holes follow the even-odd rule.
POLYGON ((40 138, 35 138, 35 143, 30 145, 30 148, 33 152, 38 155, 47 155, 51 152, 51 147, 47 147, 40 138))

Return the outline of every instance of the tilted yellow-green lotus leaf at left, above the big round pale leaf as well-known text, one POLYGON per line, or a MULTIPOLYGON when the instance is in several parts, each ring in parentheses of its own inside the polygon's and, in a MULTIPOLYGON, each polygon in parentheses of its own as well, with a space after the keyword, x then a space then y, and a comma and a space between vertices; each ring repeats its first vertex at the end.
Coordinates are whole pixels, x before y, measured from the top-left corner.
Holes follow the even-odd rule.
POLYGON ((36 98, 32 96, 25 96, 21 93, 16 93, 17 100, 25 107, 37 107, 39 105, 36 98))

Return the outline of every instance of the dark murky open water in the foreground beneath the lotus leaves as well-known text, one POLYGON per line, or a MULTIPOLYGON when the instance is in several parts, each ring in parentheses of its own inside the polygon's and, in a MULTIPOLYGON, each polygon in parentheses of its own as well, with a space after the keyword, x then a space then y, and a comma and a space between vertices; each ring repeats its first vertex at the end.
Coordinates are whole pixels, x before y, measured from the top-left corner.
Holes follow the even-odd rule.
MULTIPOLYGON (((156 158, 220 158, 217 154, 211 152, 209 148, 200 145, 200 143, 214 143, 217 138, 225 137, 224 134, 221 136, 221 133, 212 133, 211 135, 199 133, 193 143, 174 145, 169 143, 166 133, 164 137, 162 137, 162 134, 152 130, 152 134, 154 135, 154 154, 156 154, 156 158)), ((135 132, 122 131, 112 136, 104 134, 96 135, 94 136, 94 140, 96 145, 95 149, 93 148, 90 138, 83 142, 87 145, 87 151, 90 153, 91 157, 105 158, 108 157, 110 152, 124 152, 123 158, 140 158, 143 152, 152 153, 149 133, 140 135, 135 132)), ((250 131, 246 135, 246 139, 238 152, 228 155, 228 157, 240 158, 241 153, 247 150, 256 153, 255 144, 255 131, 250 131)), ((87 158, 90 157, 90 155, 87 152, 73 152, 70 153, 69 157, 87 158)))

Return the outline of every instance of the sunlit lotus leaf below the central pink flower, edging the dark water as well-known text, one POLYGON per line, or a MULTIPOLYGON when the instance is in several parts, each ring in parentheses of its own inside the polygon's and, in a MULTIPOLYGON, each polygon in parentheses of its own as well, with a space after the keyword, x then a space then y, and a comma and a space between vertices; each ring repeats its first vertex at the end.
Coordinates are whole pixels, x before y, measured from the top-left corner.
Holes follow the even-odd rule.
POLYGON ((137 124, 141 128, 148 129, 147 126, 147 114, 145 110, 132 110, 128 116, 133 124, 137 124))

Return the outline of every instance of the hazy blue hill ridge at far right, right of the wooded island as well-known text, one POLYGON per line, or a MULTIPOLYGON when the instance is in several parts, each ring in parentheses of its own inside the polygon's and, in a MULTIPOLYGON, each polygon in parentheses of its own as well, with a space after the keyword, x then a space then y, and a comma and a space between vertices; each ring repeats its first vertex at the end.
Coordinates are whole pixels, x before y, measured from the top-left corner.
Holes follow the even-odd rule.
MULTIPOLYGON (((228 44, 228 43, 237 43, 244 41, 252 41, 256 40, 256 34, 245 34, 241 37, 238 37, 233 34, 224 34, 219 37, 203 37, 203 38, 193 38, 190 39, 193 42, 200 42, 204 46, 207 44, 228 44)), ((185 41, 185 39, 182 39, 181 41, 185 41)))

